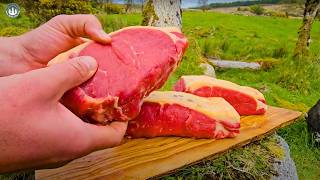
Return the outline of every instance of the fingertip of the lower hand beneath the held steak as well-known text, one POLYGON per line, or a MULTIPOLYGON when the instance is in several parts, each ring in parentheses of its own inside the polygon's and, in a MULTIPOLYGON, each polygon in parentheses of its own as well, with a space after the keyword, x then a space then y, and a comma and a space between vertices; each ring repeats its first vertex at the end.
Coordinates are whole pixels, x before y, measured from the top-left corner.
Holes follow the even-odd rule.
POLYGON ((90 136, 90 150, 117 146, 121 143, 127 130, 128 122, 112 122, 108 126, 97 126, 86 124, 87 132, 90 136))

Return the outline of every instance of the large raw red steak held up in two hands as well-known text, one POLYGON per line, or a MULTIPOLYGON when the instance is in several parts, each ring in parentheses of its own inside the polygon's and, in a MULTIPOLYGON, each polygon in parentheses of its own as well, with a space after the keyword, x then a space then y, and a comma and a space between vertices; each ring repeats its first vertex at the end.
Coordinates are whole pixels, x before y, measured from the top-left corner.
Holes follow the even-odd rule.
POLYGON ((62 103, 82 119, 102 124, 136 117, 142 98, 165 83, 188 46, 174 28, 133 26, 110 35, 111 45, 91 41, 54 60, 74 56, 97 60, 93 78, 68 91, 62 103))

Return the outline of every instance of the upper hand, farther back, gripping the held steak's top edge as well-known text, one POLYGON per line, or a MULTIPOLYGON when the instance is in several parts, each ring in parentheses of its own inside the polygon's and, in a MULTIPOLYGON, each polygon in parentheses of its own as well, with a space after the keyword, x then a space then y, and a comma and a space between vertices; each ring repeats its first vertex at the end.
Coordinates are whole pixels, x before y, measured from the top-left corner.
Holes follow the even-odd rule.
POLYGON ((22 36, 0 38, 0 76, 46 67, 56 55, 83 43, 110 43, 94 15, 59 15, 22 36))

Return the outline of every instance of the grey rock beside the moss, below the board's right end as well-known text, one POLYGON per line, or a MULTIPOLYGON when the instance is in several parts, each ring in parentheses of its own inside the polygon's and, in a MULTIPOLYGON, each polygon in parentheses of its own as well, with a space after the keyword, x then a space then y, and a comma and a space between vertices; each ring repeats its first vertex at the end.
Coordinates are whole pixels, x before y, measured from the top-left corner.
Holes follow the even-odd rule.
POLYGON ((277 176, 272 176, 271 180, 298 180, 296 165, 290 156, 290 148, 287 142, 280 136, 276 135, 279 146, 285 152, 283 159, 275 159, 273 164, 277 176))

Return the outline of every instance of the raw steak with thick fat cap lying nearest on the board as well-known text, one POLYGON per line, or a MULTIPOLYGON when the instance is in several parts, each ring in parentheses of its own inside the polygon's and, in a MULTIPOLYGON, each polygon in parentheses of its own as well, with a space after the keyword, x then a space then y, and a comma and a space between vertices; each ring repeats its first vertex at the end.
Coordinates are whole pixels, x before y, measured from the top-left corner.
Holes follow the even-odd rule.
POLYGON ((221 139, 236 136, 239 128, 239 114, 223 98, 154 91, 144 99, 140 114, 129 121, 127 135, 221 139))

